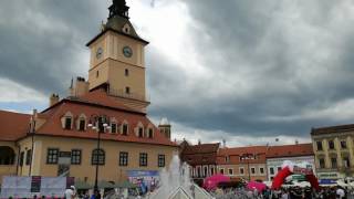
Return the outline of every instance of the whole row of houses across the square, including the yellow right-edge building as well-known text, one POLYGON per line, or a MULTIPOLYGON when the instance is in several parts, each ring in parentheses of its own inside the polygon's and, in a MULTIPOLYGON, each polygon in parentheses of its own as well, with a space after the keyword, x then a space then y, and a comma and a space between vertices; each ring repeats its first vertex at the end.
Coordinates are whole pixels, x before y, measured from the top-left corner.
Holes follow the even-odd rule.
POLYGON ((184 140, 180 157, 191 166, 196 181, 214 174, 271 181, 285 160, 310 164, 319 179, 341 179, 353 177, 353 137, 354 125, 340 125, 313 128, 312 143, 306 144, 226 147, 219 143, 190 145, 184 140))

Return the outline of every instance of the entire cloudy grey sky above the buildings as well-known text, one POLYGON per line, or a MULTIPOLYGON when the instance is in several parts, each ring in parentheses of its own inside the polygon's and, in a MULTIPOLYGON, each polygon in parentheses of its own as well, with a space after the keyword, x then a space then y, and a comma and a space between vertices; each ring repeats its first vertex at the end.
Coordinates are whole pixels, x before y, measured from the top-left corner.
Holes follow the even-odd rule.
MULTIPOLYGON (((174 138, 310 140, 353 123, 354 1, 127 0, 148 40, 149 116, 174 138)), ((1 0, 0 108, 43 109, 87 76, 85 43, 111 0, 1 0)))

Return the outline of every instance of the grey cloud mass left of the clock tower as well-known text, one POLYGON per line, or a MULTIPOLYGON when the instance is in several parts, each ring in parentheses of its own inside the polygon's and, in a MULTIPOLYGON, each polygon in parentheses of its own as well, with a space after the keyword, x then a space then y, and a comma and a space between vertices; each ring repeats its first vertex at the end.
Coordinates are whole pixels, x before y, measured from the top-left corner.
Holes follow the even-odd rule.
POLYGON ((82 65, 79 56, 88 53, 85 42, 106 15, 106 6, 97 6, 94 0, 1 1, 0 77, 66 94, 72 76, 86 76, 88 60, 82 65))

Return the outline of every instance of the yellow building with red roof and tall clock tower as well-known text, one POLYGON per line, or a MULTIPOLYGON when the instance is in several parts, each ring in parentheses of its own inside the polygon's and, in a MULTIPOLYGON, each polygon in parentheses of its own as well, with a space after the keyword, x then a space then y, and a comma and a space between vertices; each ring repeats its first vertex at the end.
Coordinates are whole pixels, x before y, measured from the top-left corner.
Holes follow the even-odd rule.
POLYGON ((67 175, 93 184, 96 168, 100 181, 164 168, 178 148, 169 124, 160 133, 146 115, 147 44, 125 1, 114 1, 101 33, 87 43, 87 82, 77 77, 67 97, 53 94, 40 113, 0 111, 0 177, 67 175))

